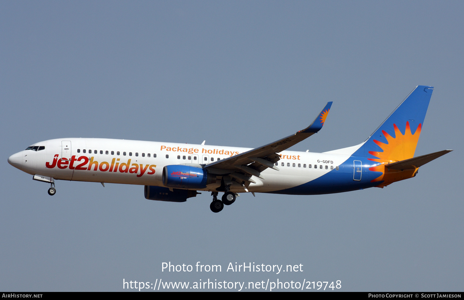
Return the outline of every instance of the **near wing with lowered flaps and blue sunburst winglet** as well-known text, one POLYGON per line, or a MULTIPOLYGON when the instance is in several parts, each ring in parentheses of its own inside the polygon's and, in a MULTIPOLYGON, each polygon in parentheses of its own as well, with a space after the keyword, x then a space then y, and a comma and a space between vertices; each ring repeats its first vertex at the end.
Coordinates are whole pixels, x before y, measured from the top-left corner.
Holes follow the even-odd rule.
POLYGON ((331 105, 332 102, 328 102, 311 125, 291 136, 284 137, 273 143, 240 153, 233 157, 208 163, 204 168, 209 173, 217 175, 232 173, 232 176, 249 182, 254 182, 250 178, 251 175, 263 178, 260 173, 267 168, 272 168, 278 171, 279 169, 274 164, 280 160, 277 153, 290 148, 296 143, 303 141, 307 137, 310 137, 317 131, 321 130, 331 105))

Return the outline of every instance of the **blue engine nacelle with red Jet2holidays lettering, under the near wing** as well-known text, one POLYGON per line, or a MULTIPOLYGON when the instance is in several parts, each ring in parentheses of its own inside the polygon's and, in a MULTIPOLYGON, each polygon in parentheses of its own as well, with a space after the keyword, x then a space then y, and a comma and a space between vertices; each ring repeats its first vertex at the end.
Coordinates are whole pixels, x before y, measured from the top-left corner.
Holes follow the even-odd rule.
POLYGON ((170 188, 204 189, 206 184, 215 183, 216 176, 205 169, 182 164, 172 164, 163 168, 163 184, 170 188))

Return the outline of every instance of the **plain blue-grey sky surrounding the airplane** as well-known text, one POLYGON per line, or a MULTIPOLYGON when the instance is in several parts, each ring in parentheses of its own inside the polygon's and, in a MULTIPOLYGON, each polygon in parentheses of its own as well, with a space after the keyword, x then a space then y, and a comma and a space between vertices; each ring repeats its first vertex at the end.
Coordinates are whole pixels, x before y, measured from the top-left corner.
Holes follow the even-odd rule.
POLYGON ((122 291, 122 280, 342 281, 343 291, 462 291, 461 1, 2 1, 0 290, 122 291), (203 192, 45 183, 6 159, 32 143, 107 137, 291 150, 361 143, 416 85, 433 85, 418 176, 342 194, 203 192), (162 262, 221 273, 161 272, 162 262), (232 262, 303 264, 232 273, 232 262))

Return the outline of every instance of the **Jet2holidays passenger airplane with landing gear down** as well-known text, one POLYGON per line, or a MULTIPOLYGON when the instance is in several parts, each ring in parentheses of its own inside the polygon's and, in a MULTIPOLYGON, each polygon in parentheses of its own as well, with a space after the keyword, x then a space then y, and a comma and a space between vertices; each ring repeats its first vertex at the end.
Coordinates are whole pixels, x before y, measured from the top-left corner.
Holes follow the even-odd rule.
POLYGON ((364 142, 311 153, 286 150, 322 129, 332 102, 307 128, 258 148, 105 138, 34 143, 8 163, 32 179, 144 185, 148 200, 185 202, 211 192, 217 213, 239 193, 318 195, 383 188, 414 177, 419 167, 452 150, 414 157, 433 87, 418 85, 364 142), (219 192, 224 192, 221 200, 219 192))

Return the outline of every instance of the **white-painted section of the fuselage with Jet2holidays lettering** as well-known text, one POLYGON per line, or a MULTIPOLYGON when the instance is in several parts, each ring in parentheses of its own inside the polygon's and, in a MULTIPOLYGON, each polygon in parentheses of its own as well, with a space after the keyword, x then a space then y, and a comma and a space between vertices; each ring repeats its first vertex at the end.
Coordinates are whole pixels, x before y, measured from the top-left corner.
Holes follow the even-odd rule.
MULTIPOLYGON (((33 146, 45 149, 24 150, 10 157, 12 164, 26 173, 61 180, 153 186, 163 186, 161 177, 166 165, 204 165, 251 150, 106 138, 53 139, 33 146)), ((250 192, 271 192, 307 183, 335 169, 350 157, 349 153, 297 151, 283 151, 279 155, 281 159, 277 164, 280 170, 264 170, 261 174, 264 179, 253 176, 256 183, 248 186, 250 192)), ((220 181, 199 190, 213 191, 219 185, 220 181)), ((234 183, 231 190, 243 192, 244 187, 234 183)))

